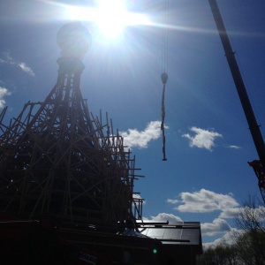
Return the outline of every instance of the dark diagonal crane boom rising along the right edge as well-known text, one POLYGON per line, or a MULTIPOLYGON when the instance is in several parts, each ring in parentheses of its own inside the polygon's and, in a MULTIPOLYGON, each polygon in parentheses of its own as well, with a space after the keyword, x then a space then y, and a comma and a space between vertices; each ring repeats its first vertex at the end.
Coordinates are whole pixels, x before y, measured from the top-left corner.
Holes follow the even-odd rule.
POLYGON ((229 64, 235 86, 238 90, 239 99, 246 115, 250 133, 254 140, 254 146, 259 155, 259 160, 249 162, 249 165, 253 167, 254 172, 258 178, 261 196, 263 201, 265 202, 265 146, 260 130, 260 125, 257 124, 256 118, 254 116, 254 110, 252 109, 251 102, 249 101, 248 95, 246 93, 246 87, 239 71, 239 65, 235 57, 235 52, 231 49, 231 42, 229 40, 228 34, 226 33, 223 19, 216 0, 208 0, 208 3, 211 7, 211 11, 216 21, 216 27, 223 44, 225 57, 229 64))

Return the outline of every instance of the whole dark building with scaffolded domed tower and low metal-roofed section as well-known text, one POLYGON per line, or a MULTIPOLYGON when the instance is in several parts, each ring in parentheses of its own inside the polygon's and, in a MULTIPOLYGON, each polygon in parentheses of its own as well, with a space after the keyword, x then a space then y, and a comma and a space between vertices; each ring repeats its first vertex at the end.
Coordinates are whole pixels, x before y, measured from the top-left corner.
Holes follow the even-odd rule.
POLYGON ((202 253, 200 223, 147 223, 135 157, 79 82, 90 34, 59 30, 56 86, 4 125, 0 115, 0 263, 182 264, 202 253))

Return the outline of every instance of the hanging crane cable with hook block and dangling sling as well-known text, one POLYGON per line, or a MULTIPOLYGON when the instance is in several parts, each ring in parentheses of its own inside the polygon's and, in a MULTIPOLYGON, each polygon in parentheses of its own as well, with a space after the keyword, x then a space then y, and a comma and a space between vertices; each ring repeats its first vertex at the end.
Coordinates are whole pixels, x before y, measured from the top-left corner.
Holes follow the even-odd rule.
POLYGON ((165 133, 164 133, 164 117, 165 117, 165 107, 164 107, 164 93, 165 85, 168 80, 167 68, 168 68, 168 33, 167 33, 167 20, 168 20, 168 0, 164 1, 164 14, 163 14, 163 43, 162 43, 162 75, 161 80, 163 83, 163 94, 162 94, 162 104, 161 104, 161 130, 163 137, 163 161, 167 161, 165 153, 165 133))

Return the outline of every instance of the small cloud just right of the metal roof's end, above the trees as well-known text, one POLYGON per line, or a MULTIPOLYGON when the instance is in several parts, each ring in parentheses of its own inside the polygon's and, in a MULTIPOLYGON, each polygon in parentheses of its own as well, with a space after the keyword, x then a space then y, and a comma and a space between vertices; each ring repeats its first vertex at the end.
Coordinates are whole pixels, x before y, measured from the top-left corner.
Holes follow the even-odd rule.
POLYGON ((221 218, 216 218, 213 223, 201 223, 202 236, 216 236, 230 230, 230 225, 221 218))

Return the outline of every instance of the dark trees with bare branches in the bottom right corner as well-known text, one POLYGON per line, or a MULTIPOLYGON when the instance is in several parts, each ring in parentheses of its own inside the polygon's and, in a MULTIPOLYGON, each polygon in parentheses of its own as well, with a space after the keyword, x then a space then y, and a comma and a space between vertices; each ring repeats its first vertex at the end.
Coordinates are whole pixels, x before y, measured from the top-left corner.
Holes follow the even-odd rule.
POLYGON ((236 230, 231 231, 231 244, 219 244, 204 250, 198 265, 264 265, 265 207, 249 199, 235 215, 236 230))

